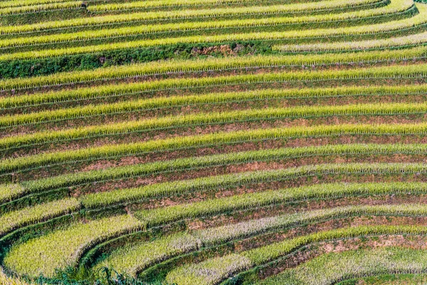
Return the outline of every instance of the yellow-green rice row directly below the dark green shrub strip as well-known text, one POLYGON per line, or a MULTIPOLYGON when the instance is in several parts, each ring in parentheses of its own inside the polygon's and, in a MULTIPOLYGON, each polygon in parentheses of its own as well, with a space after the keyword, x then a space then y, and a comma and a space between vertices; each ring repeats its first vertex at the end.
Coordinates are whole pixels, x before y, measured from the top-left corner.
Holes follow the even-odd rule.
MULTIPOLYGON (((49 76, 6 79, 0 81, 0 89, 16 90, 45 86, 62 86, 72 83, 88 83, 132 76, 150 76, 182 72, 189 73, 202 71, 226 71, 243 68, 272 68, 280 66, 312 66, 337 63, 399 61, 404 59, 424 58, 426 56, 426 51, 427 48, 425 46, 419 46, 410 49, 369 51, 366 53, 337 53, 328 55, 313 54, 297 56, 241 56, 236 58, 206 58, 204 60, 159 61, 152 63, 137 63, 126 66, 110 66, 107 68, 97 68, 94 71, 73 71, 55 73, 49 76)), ((132 84, 130 85, 132 86, 132 84)), ((93 88, 96 88, 95 90, 97 90, 97 92, 102 92, 102 88, 100 87, 94 86, 93 88)), ((80 92, 80 90, 81 89, 75 90, 75 92, 80 92)), ((85 90, 88 91, 90 89, 86 88, 85 90)), ((11 96, 7 98, 0 98, 0 108, 16 108, 43 103, 56 103, 59 100, 58 95, 55 95, 55 92, 47 93, 48 95, 43 94, 46 93, 38 94, 38 97, 33 95, 33 97, 11 96), (48 100, 46 97, 53 97, 53 99, 48 100), (27 100, 26 98, 39 99, 27 100)), ((86 96, 83 98, 88 99, 90 97, 86 96)))

